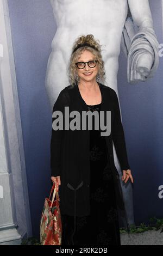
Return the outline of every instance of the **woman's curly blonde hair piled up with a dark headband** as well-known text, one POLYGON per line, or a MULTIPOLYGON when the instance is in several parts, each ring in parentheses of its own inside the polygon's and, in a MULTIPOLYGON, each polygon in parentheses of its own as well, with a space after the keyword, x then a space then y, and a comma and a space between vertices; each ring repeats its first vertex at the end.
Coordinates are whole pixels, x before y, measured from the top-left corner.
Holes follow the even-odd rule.
POLYGON ((79 57, 85 50, 90 51, 98 60, 99 72, 96 77, 96 80, 98 80, 98 82, 105 83, 105 69, 104 69, 104 62, 101 55, 101 45, 99 45, 99 40, 95 40, 92 34, 89 34, 86 36, 80 35, 79 38, 73 44, 72 54, 70 57, 70 64, 68 66, 68 76, 69 76, 69 82, 71 84, 71 87, 74 87, 78 83, 78 72, 77 72, 76 62, 78 62, 79 57), (91 45, 94 48, 89 46, 82 46, 78 48, 76 51, 74 51, 74 49, 78 47, 80 44, 85 44, 85 43, 91 45))

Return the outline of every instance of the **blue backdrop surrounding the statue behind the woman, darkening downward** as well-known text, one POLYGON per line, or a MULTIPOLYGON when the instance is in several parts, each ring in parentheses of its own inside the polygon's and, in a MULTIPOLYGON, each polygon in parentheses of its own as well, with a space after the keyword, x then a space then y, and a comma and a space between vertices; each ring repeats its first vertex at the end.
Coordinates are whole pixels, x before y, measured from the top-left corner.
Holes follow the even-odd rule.
MULTIPOLYGON (((45 74, 56 31, 48 0, 8 0, 12 44, 20 102, 24 153, 33 235, 39 237, 40 216, 51 188, 50 140, 52 113, 45 74)), ((150 1, 154 27, 162 43, 161 0, 150 1)), ((134 182, 135 222, 163 216, 158 187, 163 185, 162 58, 154 78, 127 83, 127 59, 120 55, 118 92, 128 158, 134 182)))

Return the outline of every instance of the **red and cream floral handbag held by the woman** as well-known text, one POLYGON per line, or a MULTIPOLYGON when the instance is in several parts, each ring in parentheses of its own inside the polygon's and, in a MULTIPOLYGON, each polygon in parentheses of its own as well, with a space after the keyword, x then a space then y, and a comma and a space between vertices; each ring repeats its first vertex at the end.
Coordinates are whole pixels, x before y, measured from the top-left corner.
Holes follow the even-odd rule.
POLYGON ((53 184, 49 198, 45 199, 40 221, 41 245, 61 245, 62 223, 59 209, 58 182, 53 184), (53 192, 54 190, 54 192, 53 192), (53 198, 51 194, 53 192, 53 198), (54 200, 55 194, 57 199, 54 200))

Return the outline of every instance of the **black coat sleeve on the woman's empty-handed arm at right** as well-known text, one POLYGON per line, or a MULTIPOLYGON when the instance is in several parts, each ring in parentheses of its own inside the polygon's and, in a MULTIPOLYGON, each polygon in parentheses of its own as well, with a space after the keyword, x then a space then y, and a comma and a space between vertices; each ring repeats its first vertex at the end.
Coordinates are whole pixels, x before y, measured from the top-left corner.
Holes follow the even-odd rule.
POLYGON ((113 131, 112 131, 112 139, 114 141, 116 153, 118 160, 120 161, 121 170, 130 169, 127 157, 127 150, 126 150, 126 142, 124 137, 123 126, 121 122, 121 113, 120 113, 120 106, 118 103, 118 97, 113 90, 113 100, 114 100, 114 121, 113 121, 113 131))

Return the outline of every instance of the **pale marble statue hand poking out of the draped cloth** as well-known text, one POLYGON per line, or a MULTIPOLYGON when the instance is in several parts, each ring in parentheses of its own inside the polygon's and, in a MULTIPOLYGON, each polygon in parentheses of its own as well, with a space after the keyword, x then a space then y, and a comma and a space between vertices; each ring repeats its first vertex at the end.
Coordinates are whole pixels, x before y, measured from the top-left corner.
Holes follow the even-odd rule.
POLYGON ((148 77, 153 64, 153 56, 151 53, 147 52, 139 57, 137 61, 136 71, 139 72, 141 76, 148 77))

